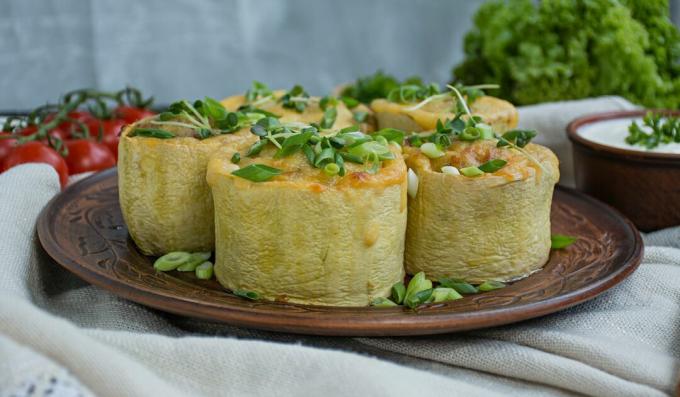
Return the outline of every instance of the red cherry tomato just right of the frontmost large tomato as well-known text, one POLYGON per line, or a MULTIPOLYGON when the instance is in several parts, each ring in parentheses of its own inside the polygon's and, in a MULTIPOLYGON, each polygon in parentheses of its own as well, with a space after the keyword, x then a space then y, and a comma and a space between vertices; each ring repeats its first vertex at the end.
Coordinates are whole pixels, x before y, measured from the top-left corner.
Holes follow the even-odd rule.
POLYGON ((66 164, 71 175, 88 171, 101 171, 116 165, 116 159, 106 145, 88 139, 66 142, 66 164))

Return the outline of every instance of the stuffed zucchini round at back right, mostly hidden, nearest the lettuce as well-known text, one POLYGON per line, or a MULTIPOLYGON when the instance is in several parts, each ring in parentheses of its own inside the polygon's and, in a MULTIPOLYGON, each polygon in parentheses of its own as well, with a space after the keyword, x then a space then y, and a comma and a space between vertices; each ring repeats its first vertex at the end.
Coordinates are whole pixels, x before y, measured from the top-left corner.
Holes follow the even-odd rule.
MULTIPOLYGON (((517 109, 508 101, 483 95, 479 89, 461 87, 475 116, 480 116, 495 131, 505 132, 517 126, 517 109)), ((459 112, 453 92, 440 93, 436 86, 406 85, 394 89, 385 99, 375 99, 378 128, 399 128, 404 131, 431 131, 437 120, 452 119, 459 112)))

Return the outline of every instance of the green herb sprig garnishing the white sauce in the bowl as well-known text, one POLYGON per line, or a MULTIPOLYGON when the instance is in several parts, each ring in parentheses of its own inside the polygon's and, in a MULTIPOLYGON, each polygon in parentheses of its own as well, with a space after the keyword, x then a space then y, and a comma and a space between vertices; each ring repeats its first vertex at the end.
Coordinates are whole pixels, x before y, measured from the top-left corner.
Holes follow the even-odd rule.
POLYGON ((628 127, 627 144, 654 149, 662 144, 680 143, 680 118, 649 112, 643 117, 642 124, 649 131, 633 121, 628 127))

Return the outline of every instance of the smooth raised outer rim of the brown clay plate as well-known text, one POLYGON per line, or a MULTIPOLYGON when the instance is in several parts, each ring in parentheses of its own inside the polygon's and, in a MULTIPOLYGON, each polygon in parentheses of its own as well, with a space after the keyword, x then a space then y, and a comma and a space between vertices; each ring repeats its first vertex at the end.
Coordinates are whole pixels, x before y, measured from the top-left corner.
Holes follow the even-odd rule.
MULTIPOLYGON (((102 183, 115 175, 116 169, 113 168, 84 178, 69 186, 47 204, 38 219, 37 231, 40 242, 48 255, 85 281, 125 299, 179 315, 269 331, 338 336, 398 336, 457 332, 514 323, 554 313, 594 298, 631 274, 640 264, 643 252, 639 232, 632 222, 618 211, 573 189, 558 187, 556 190, 559 195, 572 196, 572 199, 587 202, 602 213, 613 217, 612 219, 615 219, 617 223, 625 226, 625 234, 634 242, 631 247, 628 247, 626 257, 619 261, 623 265, 590 284, 559 296, 516 306, 466 312, 440 310, 453 302, 428 305, 414 312, 401 307, 350 308, 262 301, 246 302, 236 297, 233 299, 240 301, 237 305, 225 307, 224 304, 216 302, 176 296, 168 290, 149 291, 130 285, 110 274, 94 270, 93 266, 88 267, 78 263, 60 249, 52 235, 54 231, 51 230, 51 220, 54 214, 64 206, 65 200, 69 201, 67 200, 69 196, 77 197, 74 192, 102 183), (417 318, 417 321, 414 321, 414 318, 417 318)), ((128 243, 130 244, 132 243, 128 243)), ((227 291, 224 293, 228 294, 227 291)))

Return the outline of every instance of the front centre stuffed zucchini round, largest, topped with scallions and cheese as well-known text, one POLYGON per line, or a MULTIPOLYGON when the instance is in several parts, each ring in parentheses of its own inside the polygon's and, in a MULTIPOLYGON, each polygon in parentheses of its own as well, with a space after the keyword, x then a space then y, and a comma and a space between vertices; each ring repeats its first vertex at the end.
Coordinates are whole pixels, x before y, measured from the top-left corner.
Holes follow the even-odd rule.
POLYGON ((403 280, 403 134, 258 123, 213 155, 215 275, 269 300, 366 306, 403 280))

